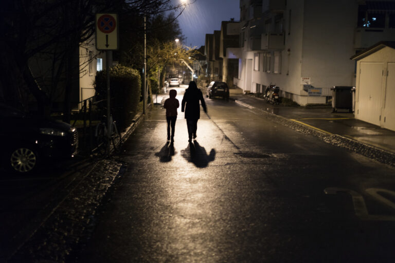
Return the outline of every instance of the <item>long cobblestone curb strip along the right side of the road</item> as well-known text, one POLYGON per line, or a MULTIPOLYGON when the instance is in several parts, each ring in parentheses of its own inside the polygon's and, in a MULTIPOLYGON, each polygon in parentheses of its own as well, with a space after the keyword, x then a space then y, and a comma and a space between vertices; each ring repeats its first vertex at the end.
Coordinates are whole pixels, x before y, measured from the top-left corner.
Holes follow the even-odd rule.
POLYGON ((333 134, 333 135, 329 134, 329 133, 325 132, 324 130, 318 130, 318 129, 310 127, 310 126, 303 125, 300 122, 295 122, 295 121, 292 121, 292 120, 287 119, 285 117, 272 114, 270 112, 267 112, 265 110, 262 110, 260 108, 257 108, 257 107, 251 106, 251 105, 248 105, 248 104, 243 103, 238 100, 235 100, 235 102, 244 106, 244 107, 247 107, 249 109, 256 109, 261 112, 264 112, 274 122, 280 123, 280 124, 287 126, 287 127, 291 127, 294 130, 297 130, 297 131, 302 132, 304 134, 313 135, 313 136, 315 136, 327 143, 330 143, 330 144, 338 146, 338 147, 346 148, 351 152, 363 155, 363 156, 368 157, 372 160, 375 160, 375 161, 395 167, 395 154, 385 151, 384 149, 381 149, 381 148, 378 148, 378 147, 375 147, 372 145, 368 145, 368 144, 365 144, 362 142, 358 142, 356 140, 352 140, 350 138, 346 138, 344 136, 340 136, 337 134, 333 134))

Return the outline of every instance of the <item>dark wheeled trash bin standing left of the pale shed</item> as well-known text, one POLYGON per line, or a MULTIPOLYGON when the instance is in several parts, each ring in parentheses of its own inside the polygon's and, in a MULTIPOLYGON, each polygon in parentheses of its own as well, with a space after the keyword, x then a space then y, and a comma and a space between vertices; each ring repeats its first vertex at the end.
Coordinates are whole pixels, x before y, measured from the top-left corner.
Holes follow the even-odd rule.
POLYGON ((354 112, 355 87, 334 86, 331 90, 332 112, 337 112, 337 109, 348 109, 349 112, 354 112))

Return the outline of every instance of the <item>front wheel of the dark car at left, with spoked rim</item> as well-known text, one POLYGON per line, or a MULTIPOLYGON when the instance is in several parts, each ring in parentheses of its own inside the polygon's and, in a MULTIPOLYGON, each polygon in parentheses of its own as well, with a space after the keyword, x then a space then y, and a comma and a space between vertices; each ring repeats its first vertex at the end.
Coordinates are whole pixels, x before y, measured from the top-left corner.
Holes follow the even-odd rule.
POLYGON ((31 172, 38 164, 38 153, 29 146, 14 148, 9 157, 9 167, 16 173, 31 172))

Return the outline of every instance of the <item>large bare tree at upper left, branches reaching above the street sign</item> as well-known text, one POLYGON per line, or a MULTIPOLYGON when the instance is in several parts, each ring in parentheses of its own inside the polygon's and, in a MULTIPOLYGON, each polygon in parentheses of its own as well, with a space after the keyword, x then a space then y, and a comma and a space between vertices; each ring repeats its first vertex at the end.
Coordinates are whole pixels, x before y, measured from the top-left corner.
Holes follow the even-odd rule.
POLYGON ((78 74, 73 74, 80 67, 78 48, 92 39, 95 13, 157 14, 179 7, 170 0, 4 0, 0 11, 0 100, 27 109, 28 97, 33 96, 44 112, 44 106, 50 106, 53 96, 61 93, 68 121, 71 87, 78 82, 74 77, 78 74), (32 70, 37 70, 29 67, 34 59, 50 65, 40 71, 42 76, 33 74, 32 70))

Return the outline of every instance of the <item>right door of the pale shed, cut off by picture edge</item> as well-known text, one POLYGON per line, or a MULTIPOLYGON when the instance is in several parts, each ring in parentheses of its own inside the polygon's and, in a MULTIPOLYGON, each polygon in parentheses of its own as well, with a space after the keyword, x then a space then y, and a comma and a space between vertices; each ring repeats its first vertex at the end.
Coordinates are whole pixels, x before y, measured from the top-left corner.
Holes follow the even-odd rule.
POLYGON ((383 127, 395 130, 395 63, 388 63, 383 127))

